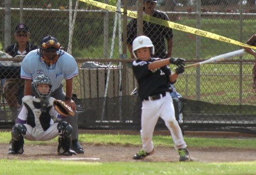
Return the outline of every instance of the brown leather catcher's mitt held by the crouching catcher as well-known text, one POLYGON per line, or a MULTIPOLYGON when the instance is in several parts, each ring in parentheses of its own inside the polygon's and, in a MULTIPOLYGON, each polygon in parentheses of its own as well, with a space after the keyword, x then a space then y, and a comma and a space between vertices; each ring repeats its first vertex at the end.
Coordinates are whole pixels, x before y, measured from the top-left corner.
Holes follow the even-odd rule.
POLYGON ((62 116, 74 116, 75 113, 74 111, 71 109, 71 107, 69 107, 67 104, 65 104, 64 101, 61 100, 54 100, 53 101, 53 107, 55 108, 55 110, 57 110, 57 112, 62 115, 62 116))

